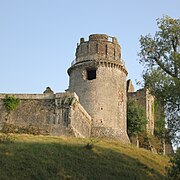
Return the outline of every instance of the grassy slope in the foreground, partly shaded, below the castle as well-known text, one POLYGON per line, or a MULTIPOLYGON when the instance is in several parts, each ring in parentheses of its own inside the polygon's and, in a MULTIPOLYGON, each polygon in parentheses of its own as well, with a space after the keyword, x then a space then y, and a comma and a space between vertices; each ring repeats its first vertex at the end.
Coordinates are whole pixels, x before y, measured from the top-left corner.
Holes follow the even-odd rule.
POLYGON ((0 144, 0 179, 164 179, 168 158, 116 141, 16 135, 0 144))

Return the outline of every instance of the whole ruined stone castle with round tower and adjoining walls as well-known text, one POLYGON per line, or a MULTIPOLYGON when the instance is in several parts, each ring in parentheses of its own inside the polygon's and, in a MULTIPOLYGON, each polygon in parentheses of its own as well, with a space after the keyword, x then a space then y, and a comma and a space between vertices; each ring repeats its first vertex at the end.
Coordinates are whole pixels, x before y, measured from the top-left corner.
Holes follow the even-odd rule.
POLYGON ((107 137, 129 143, 127 99, 136 99, 146 110, 147 131, 153 134, 153 97, 146 89, 134 92, 126 81, 127 70, 115 37, 93 34, 80 39, 76 59, 68 69, 69 87, 54 93, 0 94, 0 129, 4 124, 18 128, 35 127, 40 134, 75 137, 107 137), (6 96, 20 99, 10 114, 4 106, 6 96))

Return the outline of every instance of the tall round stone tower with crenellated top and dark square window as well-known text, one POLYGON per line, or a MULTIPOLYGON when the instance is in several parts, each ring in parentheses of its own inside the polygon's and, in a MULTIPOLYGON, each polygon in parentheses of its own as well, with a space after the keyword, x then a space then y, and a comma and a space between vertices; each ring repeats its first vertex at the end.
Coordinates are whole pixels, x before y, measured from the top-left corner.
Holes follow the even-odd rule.
POLYGON ((127 70, 115 37, 93 34, 80 39, 68 69, 69 91, 76 92, 92 117, 92 136, 129 142, 126 118, 127 70))

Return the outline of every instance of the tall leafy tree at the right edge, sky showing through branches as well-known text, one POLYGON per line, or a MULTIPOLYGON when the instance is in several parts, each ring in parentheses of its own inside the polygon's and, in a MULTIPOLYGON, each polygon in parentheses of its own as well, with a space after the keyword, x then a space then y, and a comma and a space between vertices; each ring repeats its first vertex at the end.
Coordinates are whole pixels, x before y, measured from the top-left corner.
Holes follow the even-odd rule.
POLYGON ((145 86, 162 106, 170 136, 180 142, 180 19, 157 19, 159 30, 140 38, 145 86))

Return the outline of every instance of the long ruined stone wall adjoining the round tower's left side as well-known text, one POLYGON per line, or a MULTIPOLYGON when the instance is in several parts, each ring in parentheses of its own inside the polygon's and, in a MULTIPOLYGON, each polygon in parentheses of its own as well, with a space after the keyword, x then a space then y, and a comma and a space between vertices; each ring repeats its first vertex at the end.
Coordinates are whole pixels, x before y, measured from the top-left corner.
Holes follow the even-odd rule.
POLYGON ((13 96, 20 99, 20 104, 16 110, 8 114, 3 102, 6 94, 0 94, 0 128, 4 124, 27 130, 33 127, 40 134, 79 137, 75 133, 78 131, 81 137, 89 137, 90 133, 87 132, 90 132, 91 128, 87 122, 90 124, 91 118, 87 117, 87 114, 84 115, 84 111, 75 108, 77 103, 72 106, 73 101, 78 101, 74 93, 13 94, 13 96), (70 116, 71 111, 74 113, 70 116), (79 119, 85 124, 82 129, 74 126, 78 124, 79 119), (85 129, 87 132, 84 132, 85 129))

